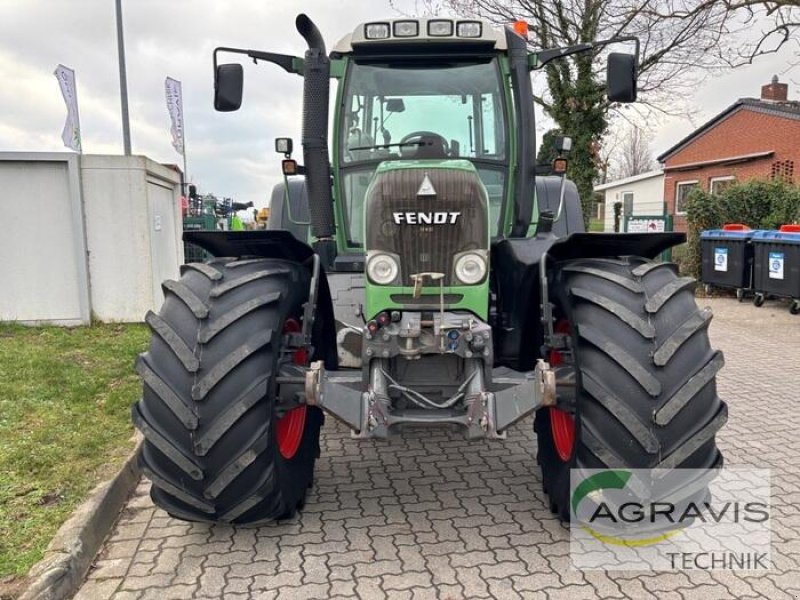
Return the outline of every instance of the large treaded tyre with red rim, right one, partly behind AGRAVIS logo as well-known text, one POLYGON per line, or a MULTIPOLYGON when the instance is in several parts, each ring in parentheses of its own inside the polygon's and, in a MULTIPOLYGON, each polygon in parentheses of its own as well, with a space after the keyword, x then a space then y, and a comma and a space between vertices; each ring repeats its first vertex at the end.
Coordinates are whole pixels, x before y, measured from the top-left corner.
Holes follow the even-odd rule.
POLYGON ((694 285, 674 265, 639 258, 556 268, 552 300, 569 332, 563 357, 575 369, 576 401, 538 411, 534 429, 550 508, 563 521, 571 468, 721 466, 715 434, 728 412, 716 374, 724 361, 709 344, 711 314, 698 309, 694 285))

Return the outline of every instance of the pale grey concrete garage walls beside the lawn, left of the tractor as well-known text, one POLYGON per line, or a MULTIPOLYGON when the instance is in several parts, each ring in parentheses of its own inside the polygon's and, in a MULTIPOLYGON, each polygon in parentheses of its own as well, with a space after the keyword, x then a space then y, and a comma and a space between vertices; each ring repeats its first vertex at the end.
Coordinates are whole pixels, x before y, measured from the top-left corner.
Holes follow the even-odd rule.
POLYGON ((183 262, 179 175, 145 157, 0 153, 0 320, 141 321, 183 262))

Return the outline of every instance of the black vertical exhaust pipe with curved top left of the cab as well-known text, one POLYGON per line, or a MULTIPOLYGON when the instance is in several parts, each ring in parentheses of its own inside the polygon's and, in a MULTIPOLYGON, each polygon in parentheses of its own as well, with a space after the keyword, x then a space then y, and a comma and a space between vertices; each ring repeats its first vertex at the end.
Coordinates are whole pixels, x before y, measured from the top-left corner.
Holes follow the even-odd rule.
POLYGON ((328 99, 331 63, 325 41, 317 26, 305 14, 297 16, 297 32, 308 44, 303 72, 303 161, 306 167, 311 235, 322 264, 329 267, 336 256, 333 235, 336 224, 331 193, 331 163, 328 154, 328 99))

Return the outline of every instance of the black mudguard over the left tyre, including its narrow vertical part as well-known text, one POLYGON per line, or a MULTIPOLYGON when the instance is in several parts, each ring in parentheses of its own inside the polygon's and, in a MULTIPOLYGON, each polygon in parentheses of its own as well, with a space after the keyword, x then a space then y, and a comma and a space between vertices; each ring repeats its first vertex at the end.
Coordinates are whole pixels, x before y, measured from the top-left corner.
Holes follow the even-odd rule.
MULTIPOLYGON (((183 239, 214 256, 282 258, 311 269, 314 249, 281 229, 258 231, 185 231, 183 239)), ((336 321, 325 269, 320 267, 314 322, 317 356, 326 369, 336 369, 336 321)))

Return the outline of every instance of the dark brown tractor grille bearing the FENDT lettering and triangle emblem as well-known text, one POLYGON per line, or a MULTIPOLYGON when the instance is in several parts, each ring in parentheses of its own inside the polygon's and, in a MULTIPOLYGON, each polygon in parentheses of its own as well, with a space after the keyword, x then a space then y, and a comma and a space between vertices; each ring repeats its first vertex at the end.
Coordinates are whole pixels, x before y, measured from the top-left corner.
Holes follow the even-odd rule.
POLYGON ((375 176, 366 202, 366 248, 397 254, 404 286, 414 284, 412 274, 428 272, 455 285, 453 257, 488 247, 486 192, 474 171, 389 169, 375 176), (435 196, 417 195, 426 175, 435 196))

